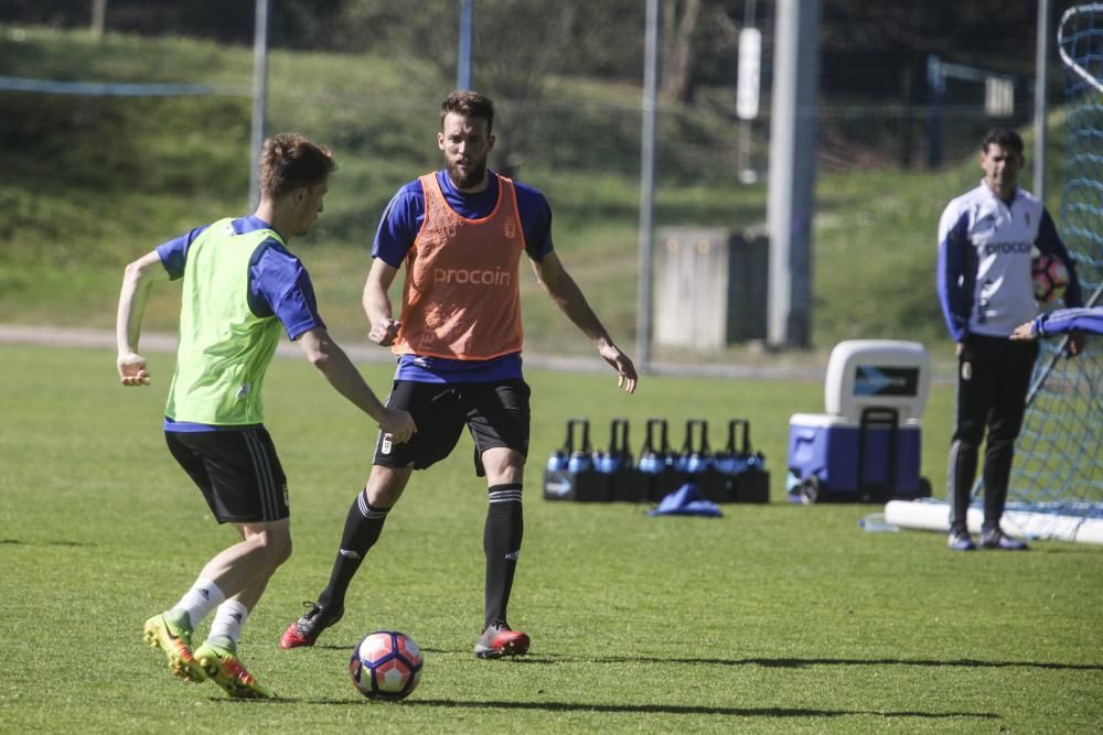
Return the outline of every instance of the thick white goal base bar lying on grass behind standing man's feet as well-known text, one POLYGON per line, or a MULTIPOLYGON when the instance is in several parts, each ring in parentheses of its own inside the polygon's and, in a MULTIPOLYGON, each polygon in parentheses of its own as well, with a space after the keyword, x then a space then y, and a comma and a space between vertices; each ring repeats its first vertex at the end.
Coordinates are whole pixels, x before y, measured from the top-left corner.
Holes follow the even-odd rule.
MULTIPOLYGON (((885 520, 900 528, 921 531, 950 532, 950 505, 929 500, 889 500, 885 506, 885 520)), ((984 514, 970 508, 966 516, 970 533, 979 533, 984 514)), ((1024 539, 1075 541, 1103 545, 1103 520, 1077 516, 1008 510, 1004 514, 1003 529, 1009 536, 1024 539)))

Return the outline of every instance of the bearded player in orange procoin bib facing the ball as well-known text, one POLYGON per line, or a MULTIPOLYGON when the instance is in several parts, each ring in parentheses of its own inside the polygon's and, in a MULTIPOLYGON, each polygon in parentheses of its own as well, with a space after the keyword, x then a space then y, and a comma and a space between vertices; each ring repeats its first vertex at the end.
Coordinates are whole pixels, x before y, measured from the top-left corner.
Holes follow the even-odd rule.
POLYGON ((341 619, 349 584, 410 474, 447 457, 467 425, 489 501, 485 616, 474 652, 499 658, 528 650, 528 636, 506 621, 523 534, 529 432, 529 390, 521 369, 522 253, 548 295, 617 371, 618 386, 635 390, 632 360, 613 344, 553 250, 544 195, 486 167, 494 147, 491 100, 454 91, 441 106, 440 123, 445 169, 406 184, 392 198, 364 287, 371 339, 398 355, 388 406, 409 411, 418 433, 400 445, 381 436, 367 485, 349 509, 330 582, 283 633, 285 649, 312 646, 341 619), (397 321, 388 290, 404 262, 397 321))

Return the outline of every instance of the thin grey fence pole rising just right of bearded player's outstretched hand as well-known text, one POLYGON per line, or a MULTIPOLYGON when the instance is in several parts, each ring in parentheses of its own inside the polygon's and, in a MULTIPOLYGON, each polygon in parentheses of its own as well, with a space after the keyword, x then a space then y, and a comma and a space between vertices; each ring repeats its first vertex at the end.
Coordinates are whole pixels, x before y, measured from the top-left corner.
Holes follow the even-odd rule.
POLYGON ((658 0, 647 0, 643 58, 643 129, 640 161, 640 293, 635 313, 636 368, 651 365, 652 257, 655 244, 655 112, 658 89, 658 0))

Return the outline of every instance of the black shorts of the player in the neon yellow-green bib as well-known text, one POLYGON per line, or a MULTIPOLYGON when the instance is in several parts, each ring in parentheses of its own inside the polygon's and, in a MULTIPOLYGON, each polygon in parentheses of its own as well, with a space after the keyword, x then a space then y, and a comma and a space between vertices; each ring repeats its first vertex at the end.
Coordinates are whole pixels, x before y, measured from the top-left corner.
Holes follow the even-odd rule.
POLYGON ((287 476, 264 426, 240 431, 167 431, 169 452, 201 490, 219 523, 287 518, 287 476))

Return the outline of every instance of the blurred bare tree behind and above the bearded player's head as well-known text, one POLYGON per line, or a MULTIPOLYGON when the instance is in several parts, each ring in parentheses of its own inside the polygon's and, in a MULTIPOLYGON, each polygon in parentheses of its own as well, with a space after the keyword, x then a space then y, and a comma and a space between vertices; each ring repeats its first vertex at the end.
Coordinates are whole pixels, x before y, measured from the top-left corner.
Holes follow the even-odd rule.
MULTIPOLYGON (((331 43, 395 50, 411 77, 443 94, 456 84, 459 2, 426 2, 417 12, 393 0, 346 0, 331 43)), ((472 86, 499 104, 493 165, 515 174, 536 144, 538 119, 557 75, 640 78, 643 13, 635 0, 475 0, 472 86), (624 29, 631 29, 625 32, 624 29), (535 110, 535 111, 534 111, 535 110)))

